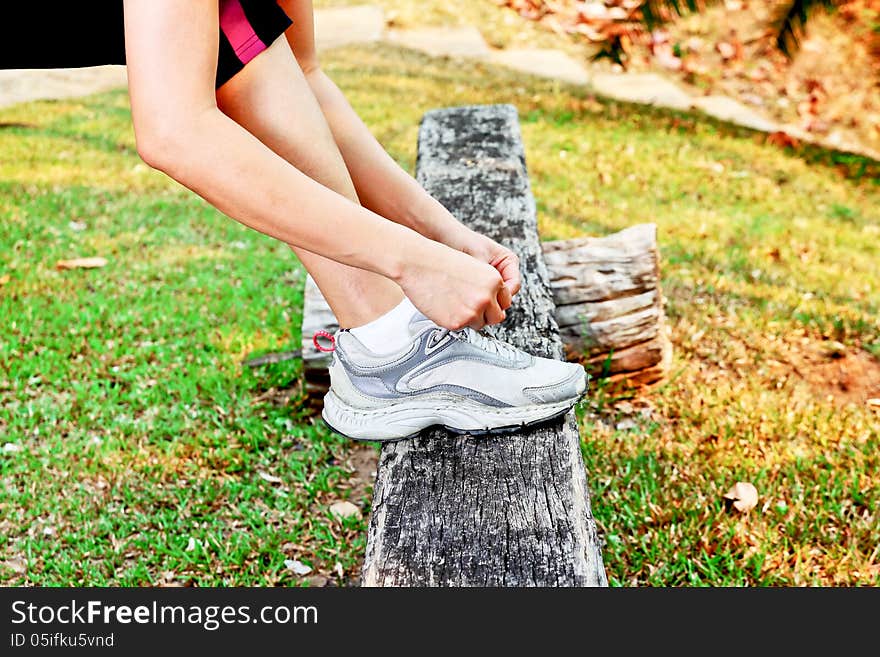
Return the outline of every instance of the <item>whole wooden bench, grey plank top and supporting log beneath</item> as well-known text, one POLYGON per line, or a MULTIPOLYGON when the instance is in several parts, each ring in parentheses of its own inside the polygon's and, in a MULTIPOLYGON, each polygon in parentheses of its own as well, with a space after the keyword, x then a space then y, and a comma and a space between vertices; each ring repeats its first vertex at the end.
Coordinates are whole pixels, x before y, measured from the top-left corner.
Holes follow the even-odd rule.
MULTIPOLYGON (((520 258, 522 290, 507 320, 487 332, 535 355, 581 360, 594 373, 662 377, 668 347, 653 224, 542 245, 512 105, 428 112, 416 168, 457 218, 520 258)), ((329 383, 328 355, 312 336, 336 328, 309 277, 302 355, 316 406, 329 383)), ((574 412, 510 435, 429 429, 383 445, 361 582, 607 586, 574 412)))

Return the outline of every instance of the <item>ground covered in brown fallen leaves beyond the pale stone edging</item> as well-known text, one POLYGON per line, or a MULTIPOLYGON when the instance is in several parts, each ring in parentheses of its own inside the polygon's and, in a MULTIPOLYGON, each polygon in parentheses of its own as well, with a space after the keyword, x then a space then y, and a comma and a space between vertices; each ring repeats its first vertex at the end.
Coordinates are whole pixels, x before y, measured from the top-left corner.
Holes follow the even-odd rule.
POLYGON ((628 69, 675 74, 694 93, 735 98, 844 150, 880 150, 880 0, 815 12, 792 58, 776 45, 774 0, 727 0, 682 16, 672 3, 654 4, 660 22, 650 30, 646 0, 493 1, 628 69))

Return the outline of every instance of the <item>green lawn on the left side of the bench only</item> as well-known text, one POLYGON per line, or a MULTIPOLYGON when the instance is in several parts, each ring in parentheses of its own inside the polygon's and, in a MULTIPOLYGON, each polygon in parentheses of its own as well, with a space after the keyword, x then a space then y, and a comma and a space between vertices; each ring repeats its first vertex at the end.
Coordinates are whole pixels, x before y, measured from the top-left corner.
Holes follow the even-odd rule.
POLYGON ((38 126, 2 133, 0 445, 23 451, 0 456, 0 553, 34 584, 295 584, 289 558, 343 583, 348 447, 300 409, 298 361, 240 365, 298 346, 304 271, 139 163, 127 103, 4 112, 38 126), (81 254, 109 264, 54 269, 81 254))

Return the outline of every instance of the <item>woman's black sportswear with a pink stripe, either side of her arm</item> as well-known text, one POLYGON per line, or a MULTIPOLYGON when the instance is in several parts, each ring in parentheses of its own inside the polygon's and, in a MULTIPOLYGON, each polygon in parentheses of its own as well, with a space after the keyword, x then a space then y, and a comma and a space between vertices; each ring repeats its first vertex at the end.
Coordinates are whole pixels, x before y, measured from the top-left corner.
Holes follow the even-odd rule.
MULTIPOLYGON (((0 40, 0 68, 125 64, 122 0, 16 3, 16 24, 0 40)), ((275 0, 218 0, 219 87, 290 27, 275 0)))

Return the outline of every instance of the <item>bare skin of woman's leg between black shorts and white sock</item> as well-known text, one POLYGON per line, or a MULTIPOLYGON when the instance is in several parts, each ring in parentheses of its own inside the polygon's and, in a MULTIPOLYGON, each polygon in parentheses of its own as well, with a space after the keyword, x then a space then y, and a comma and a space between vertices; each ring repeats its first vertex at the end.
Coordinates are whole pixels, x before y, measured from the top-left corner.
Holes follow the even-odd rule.
MULTIPOLYGON (((282 36, 217 90, 220 110, 309 177, 357 202, 345 161, 282 36)), ((293 247, 341 326, 366 324, 403 300, 393 281, 293 247)))

